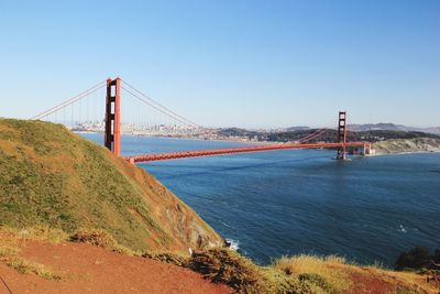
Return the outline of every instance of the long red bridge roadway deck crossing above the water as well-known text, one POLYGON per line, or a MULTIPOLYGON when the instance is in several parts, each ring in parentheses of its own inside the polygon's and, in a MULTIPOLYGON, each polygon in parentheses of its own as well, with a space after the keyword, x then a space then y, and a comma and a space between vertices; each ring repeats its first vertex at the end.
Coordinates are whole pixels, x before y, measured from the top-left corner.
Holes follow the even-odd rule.
MULTIPOLYGON (((345 146, 366 146, 365 142, 346 142, 345 146)), ((250 152, 264 152, 274 150, 288 150, 288 149, 334 149, 342 148, 343 143, 286 143, 286 144, 273 144, 273 145, 257 145, 257 146, 243 146, 243 148, 228 148, 228 149, 213 149, 213 150, 194 150, 194 151, 179 151, 179 152, 167 152, 156 154, 141 154, 134 156, 124 156, 123 159, 130 163, 141 162, 154 162, 154 161, 167 161, 177 159, 189 159, 189 157, 201 157, 201 156, 215 156, 224 154, 238 154, 238 153, 250 153, 250 152)))

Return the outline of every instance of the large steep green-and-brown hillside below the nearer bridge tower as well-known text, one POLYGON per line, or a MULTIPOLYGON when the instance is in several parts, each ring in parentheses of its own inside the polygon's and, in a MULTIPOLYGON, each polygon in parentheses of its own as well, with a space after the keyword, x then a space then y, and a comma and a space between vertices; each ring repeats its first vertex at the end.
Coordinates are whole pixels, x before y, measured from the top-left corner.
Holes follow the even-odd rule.
POLYGON ((102 229, 133 250, 222 246, 144 170, 61 124, 0 119, 0 225, 102 229))

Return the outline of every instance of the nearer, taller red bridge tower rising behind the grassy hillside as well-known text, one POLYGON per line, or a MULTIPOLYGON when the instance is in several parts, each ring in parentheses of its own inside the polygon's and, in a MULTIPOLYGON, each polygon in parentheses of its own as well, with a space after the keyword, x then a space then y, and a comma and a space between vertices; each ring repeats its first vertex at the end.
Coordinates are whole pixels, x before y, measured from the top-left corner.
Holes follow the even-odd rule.
POLYGON ((121 155, 121 79, 107 79, 105 145, 121 155))

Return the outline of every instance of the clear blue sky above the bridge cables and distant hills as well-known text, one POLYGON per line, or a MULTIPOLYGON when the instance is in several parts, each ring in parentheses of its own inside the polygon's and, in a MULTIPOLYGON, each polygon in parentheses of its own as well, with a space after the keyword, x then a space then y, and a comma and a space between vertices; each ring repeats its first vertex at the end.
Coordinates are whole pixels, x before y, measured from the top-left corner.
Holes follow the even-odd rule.
POLYGON ((0 116, 121 76, 204 126, 440 126, 440 1, 0 1, 0 116), (68 2, 68 3, 67 3, 68 2))

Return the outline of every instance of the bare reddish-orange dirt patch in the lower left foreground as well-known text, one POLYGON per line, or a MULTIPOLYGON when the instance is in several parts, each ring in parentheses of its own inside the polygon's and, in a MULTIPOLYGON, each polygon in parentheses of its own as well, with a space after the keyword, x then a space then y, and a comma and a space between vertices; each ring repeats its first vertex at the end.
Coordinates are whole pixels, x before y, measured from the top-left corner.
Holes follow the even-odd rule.
MULTIPOLYGON (((89 244, 26 240, 20 248, 20 257, 51 266, 62 280, 20 274, 0 263, 0 276, 12 293, 232 293, 188 269, 89 244)), ((9 292, 0 280, 2 293, 9 292)))

